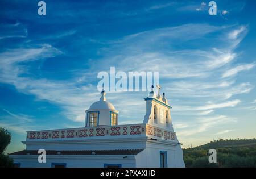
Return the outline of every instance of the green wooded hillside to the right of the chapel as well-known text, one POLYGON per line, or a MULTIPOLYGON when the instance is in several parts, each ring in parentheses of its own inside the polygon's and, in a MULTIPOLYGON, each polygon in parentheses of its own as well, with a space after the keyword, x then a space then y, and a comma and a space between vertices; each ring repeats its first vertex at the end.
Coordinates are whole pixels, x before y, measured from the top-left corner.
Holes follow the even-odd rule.
POLYGON ((256 167, 256 139, 210 141, 183 149, 186 167, 256 167), (209 149, 216 149, 217 163, 209 163, 209 149))

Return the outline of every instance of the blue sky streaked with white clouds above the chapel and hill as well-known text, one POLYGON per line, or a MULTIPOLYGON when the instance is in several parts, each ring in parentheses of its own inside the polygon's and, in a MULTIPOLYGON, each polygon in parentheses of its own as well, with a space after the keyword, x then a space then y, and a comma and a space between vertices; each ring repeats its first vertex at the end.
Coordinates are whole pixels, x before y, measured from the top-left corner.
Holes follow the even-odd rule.
MULTIPOLYGON (((0 2, 0 126, 82 127, 98 101, 98 72, 159 71, 176 134, 187 147, 255 137, 256 2, 0 2)), ((108 93, 119 124, 142 123, 145 92, 108 93)))

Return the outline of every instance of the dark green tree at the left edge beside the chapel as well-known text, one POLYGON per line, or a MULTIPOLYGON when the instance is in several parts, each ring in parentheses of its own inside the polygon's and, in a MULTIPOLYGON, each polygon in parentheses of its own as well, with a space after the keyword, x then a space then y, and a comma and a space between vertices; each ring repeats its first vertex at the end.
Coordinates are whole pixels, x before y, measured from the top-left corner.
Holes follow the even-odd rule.
POLYGON ((13 167, 13 159, 3 152, 11 142, 11 134, 5 128, 0 127, 0 167, 13 167))

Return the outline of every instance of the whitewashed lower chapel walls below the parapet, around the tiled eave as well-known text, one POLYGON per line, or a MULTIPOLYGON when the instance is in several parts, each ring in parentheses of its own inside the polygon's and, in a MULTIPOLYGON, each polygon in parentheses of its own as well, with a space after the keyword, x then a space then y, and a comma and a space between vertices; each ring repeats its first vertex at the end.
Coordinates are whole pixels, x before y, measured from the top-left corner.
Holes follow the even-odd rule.
MULTIPOLYGON (((67 147, 72 146, 66 144, 67 147)), ((76 144, 77 145, 77 144, 76 144)), ((33 148, 38 148, 36 145, 32 145, 33 148)), ((40 146, 42 147, 42 146, 40 146)), ((50 149, 60 149, 64 147, 63 144, 57 146, 51 145, 50 149)), ((174 145, 171 143, 164 143, 163 141, 138 141, 137 143, 114 143, 112 145, 100 144, 96 145, 81 145, 81 149, 120 149, 120 148, 144 148, 144 150, 136 156, 120 155, 120 156, 47 156, 46 164, 39 164, 37 162, 38 156, 23 155, 23 156, 11 156, 15 162, 22 163, 21 167, 51 167, 51 163, 67 163, 67 167, 103 167, 106 164, 122 164, 122 167, 160 167, 160 151, 167 152, 167 166, 170 167, 185 167, 183 161, 183 151, 180 145, 174 145), (82 148, 84 147, 84 148, 82 148), (123 159, 124 156, 128 158, 123 159)), ((45 146, 44 148, 47 148, 45 146)), ((76 149, 79 146, 76 146, 76 149)), ((73 149, 73 148, 71 148, 73 149)))

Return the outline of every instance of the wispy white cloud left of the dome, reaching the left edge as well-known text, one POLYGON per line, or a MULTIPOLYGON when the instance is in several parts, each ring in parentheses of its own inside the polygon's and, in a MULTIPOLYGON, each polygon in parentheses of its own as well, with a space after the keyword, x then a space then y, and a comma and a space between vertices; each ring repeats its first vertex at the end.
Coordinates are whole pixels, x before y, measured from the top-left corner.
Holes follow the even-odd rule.
MULTIPOLYGON (((35 95, 38 99, 48 100, 63 106, 65 115, 75 121, 84 122, 84 96, 89 86, 75 87, 73 82, 47 80, 45 78, 20 77, 27 72, 24 63, 28 61, 42 60, 47 57, 59 55, 61 51, 44 44, 38 48, 12 49, 0 53, 0 82, 12 84, 23 93, 35 95), (77 115, 74 115, 77 114, 77 115)), ((96 100, 96 98, 91 98, 96 100)), ((92 101, 86 101, 92 102, 92 101)), ((89 105, 89 104, 88 104, 89 105)))

